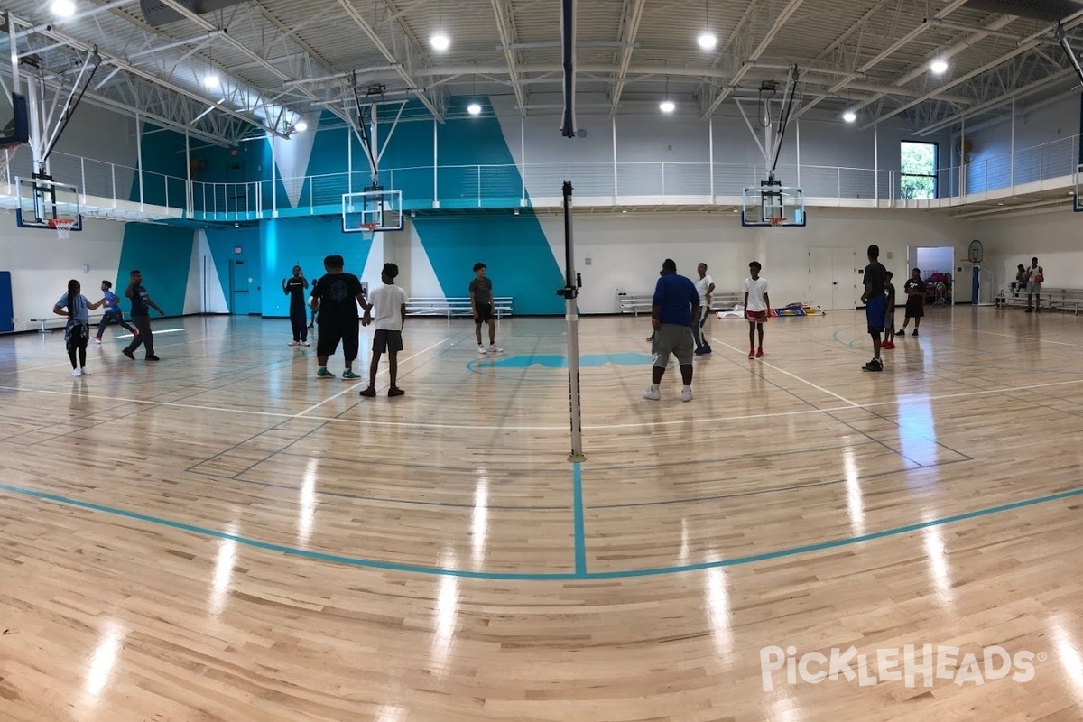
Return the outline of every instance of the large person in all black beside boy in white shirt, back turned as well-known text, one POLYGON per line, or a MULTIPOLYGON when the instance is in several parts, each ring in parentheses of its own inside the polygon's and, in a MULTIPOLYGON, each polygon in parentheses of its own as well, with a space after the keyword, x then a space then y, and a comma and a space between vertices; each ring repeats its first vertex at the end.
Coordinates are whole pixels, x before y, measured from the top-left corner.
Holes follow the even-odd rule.
POLYGON ((316 369, 317 379, 332 379, 335 375, 327 370, 327 357, 342 342, 342 356, 345 360, 343 379, 360 379, 353 372, 353 362, 357 358, 357 347, 361 343, 361 317, 357 315, 357 304, 367 309, 365 290, 361 279, 352 273, 345 273, 345 259, 341 255, 328 255, 324 259, 325 273, 312 287, 312 307, 319 314, 316 327, 316 369))

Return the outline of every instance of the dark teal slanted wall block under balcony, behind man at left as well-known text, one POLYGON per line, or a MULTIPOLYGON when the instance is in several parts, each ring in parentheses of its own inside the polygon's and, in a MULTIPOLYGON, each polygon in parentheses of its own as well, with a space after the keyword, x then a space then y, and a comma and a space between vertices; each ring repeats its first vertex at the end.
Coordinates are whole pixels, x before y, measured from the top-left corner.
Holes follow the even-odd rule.
MULTIPOLYGON (((120 249, 120 268, 116 290, 119 296, 128 288, 128 274, 143 272, 143 286, 151 298, 170 316, 184 313, 184 294, 192 263, 193 231, 168 225, 126 223, 120 249)), ((122 300, 127 313, 130 303, 122 300)))

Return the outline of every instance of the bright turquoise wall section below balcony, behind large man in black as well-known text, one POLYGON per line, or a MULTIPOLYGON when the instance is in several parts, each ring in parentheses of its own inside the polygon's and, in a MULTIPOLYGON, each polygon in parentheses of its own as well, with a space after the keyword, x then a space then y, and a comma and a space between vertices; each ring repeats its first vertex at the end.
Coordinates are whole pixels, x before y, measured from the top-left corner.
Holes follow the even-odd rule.
POLYGON ((282 292, 282 280, 301 266, 309 283, 324 275, 324 257, 341 255, 345 270, 360 276, 371 241, 358 233, 342 233, 340 216, 274 219, 260 223, 262 277, 266 288, 262 294, 264 316, 289 316, 289 299, 282 292))

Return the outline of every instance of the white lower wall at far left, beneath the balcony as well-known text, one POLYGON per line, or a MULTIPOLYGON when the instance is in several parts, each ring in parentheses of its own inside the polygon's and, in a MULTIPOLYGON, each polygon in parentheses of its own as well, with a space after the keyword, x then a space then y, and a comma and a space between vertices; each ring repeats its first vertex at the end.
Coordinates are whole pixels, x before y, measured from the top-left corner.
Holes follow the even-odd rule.
POLYGON ((15 330, 36 328, 31 318, 51 316, 71 278, 87 298, 99 300, 102 279, 116 279, 123 233, 122 223, 87 220, 81 233, 60 240, 55 232, 19 228, 14 214, 0 214, 0 270, 11 271, 15 330))

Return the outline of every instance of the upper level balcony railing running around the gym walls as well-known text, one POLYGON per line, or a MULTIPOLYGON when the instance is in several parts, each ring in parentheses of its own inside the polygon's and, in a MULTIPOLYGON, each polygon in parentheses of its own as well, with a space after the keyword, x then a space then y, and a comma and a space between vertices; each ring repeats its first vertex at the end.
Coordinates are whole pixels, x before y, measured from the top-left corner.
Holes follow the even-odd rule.
MULTIPOLYGON (((29 176, 30 154, 11 154, 8 181, 29 176)), ((938 170, 937 197, 967 196, 1026 188, 1052 181, 1074 185, 1080 136, 979 158, 938 170), (961 189, 965 189, 961 193, 961 189)), ((54 153, 54 179, 77 185, 88 197, 178 209, 187 218, 235 221, 274 214, 334 214, 342 194, 363 191, 368 172, 330 173, 249 183, 211 183, 140 172, 129 166, 54 153)), ((762 166, 715 162, 526 163, 392 168, 380 171, 384 188, 403 193, 404 210, 517 208, 559 204, 561 184, 571 180, 580 202, 599 205, 732 205, 746 186, 767 176, 762 166)), ((839 206, 891 207, 902 198, 893 170, 831 166, 780 166, 784 185, 803 188, 806 198, 839 206)), ((1059 185, 1058 185, 1059 187, 1059 185)))

